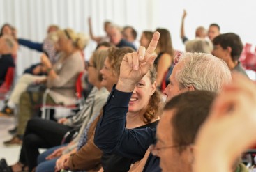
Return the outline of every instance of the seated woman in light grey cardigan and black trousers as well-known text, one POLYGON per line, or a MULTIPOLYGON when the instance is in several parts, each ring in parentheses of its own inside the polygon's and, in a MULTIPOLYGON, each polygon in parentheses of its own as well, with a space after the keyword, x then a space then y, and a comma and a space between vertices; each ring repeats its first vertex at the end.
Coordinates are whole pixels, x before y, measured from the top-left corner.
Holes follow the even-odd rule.
MULTIPOLYGON (((107 90, 100 85, 102 81, 100 70, 103 68, 106 57, 107 50, 98 50, 91 56, 88 68, 88 80, 93 84, 94 88, 88 97, 88 101, 86 100, 85 107, 73 116, 73 118, 62 118, 58 123, 41 118, 29 120, 20 151, 20 159, 19 162, 12 166, 13 171, 15 168, 19 169, 20 164, 29 166, 29 171, 31 171, 36 166, 36 158, 39 155, 38 148, 50 148, 59 145, 66 132, 74 128, 78 129, 82 125, 87 125, 91 118, 98 116, 109 94, 107 90)), ((44 166, 44 171, 52 167, 51 164, 52 163, 49 164, 50 166, 44 166)), ((52 169, 50 168, 50 170, 54 171, 54 166, 52 169)))

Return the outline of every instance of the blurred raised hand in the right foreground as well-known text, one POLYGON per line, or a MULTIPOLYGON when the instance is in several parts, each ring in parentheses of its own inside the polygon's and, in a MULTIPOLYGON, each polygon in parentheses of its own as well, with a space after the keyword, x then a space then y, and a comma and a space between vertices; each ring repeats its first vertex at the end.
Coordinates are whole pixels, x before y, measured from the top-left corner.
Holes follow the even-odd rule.
POLYGON ((197 134, 195 171, 230 171, 241 153, 256 143, 255 104, 255 83, 234 75, 197 134))

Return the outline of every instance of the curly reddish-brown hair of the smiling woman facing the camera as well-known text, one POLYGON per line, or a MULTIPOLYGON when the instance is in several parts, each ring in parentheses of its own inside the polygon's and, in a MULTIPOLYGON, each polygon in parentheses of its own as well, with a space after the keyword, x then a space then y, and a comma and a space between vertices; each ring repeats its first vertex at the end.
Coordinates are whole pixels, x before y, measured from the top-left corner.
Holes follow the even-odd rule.
MULTIPOLYGON (((152 65, 149 72, 146 74, 149 76, 151 84, 156 81, 156 68, 152 65)), ((146 112, 143 114, 143 122, 148 124, 152 120, 157 119, 160 111, 163 109, 163 101, 161 100, 160 91, 156 89, 155 93, 151 95, 146 112)))

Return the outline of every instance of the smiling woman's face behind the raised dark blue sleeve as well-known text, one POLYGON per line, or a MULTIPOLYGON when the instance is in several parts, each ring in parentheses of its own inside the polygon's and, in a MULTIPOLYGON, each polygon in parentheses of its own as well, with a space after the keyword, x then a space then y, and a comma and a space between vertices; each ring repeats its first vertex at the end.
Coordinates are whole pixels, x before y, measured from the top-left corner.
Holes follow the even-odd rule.
POLYGON ((150 80, 149 72, 145 75, 135 86, 133 95, 130 98, 128 111, 130 113, 144 114, 144 111, 148 107, 151 95, 156 91, 156 82, 153 84, 150 80))

